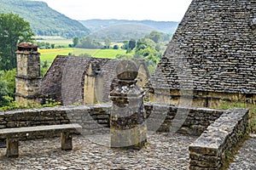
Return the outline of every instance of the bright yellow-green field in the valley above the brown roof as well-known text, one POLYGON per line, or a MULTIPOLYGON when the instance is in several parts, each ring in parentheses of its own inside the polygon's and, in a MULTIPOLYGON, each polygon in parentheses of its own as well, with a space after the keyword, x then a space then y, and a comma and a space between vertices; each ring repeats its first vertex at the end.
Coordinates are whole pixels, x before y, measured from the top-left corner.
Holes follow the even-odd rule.
POLYGON ((52 63, 57 55, 67 54, 90 54, 96 58, 109 58, 114 59, 117 54, 125 54, 124 49, 88 49, 88 48, 54 48, 54 49, 38 49, 41 54, 41 61, 47 60, 48 63, 52 63))

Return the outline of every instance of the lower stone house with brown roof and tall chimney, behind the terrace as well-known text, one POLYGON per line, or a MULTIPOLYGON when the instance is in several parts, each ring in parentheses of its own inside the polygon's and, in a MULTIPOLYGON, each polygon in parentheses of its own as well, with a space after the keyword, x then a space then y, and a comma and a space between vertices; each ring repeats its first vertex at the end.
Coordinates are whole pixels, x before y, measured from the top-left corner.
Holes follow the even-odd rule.
MULTIPOLYGON (((116 65, 120 59, 88 56, 56 56, 44 78, 40 75, 38 47, 29 42, 18 45, 15 100, 20 105, 40 104, 55 99, 63 105, 108 102, 115 86, 116 65)), ((140 87, 148 82, 148 68, 136 59, 140 87)))

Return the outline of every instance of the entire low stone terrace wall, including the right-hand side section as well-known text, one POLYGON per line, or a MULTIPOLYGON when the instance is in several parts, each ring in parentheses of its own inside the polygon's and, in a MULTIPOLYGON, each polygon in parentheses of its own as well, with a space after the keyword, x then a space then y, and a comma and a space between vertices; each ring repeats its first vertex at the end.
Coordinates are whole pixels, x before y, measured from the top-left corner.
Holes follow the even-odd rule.
MULTIPOLYGON (((82 134, 109 134, 111 106, 61 106, 0 112, 0 128, 73 122, 83 127, 82 134)), ((148 131, 175 133, 177 130, 177 133, 200 136, 189 146, 190 169, 219 169, 227 151, 235 147, 247 128, 248 111, 243 109, 222 111, 155 103, 145 103, 144 109, 148 131), (179 122, 182 122, 180 126, 179 122)))

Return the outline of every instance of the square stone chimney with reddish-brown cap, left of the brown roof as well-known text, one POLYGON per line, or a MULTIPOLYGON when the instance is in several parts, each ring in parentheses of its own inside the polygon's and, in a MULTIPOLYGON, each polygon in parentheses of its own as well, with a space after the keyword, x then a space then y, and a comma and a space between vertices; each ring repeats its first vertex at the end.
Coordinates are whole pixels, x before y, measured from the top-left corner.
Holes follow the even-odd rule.
POLYGON ((15 100, 18 105, 40 104, 40 59, 38 46, 21 42, 16 52, 17 76, 15 100))

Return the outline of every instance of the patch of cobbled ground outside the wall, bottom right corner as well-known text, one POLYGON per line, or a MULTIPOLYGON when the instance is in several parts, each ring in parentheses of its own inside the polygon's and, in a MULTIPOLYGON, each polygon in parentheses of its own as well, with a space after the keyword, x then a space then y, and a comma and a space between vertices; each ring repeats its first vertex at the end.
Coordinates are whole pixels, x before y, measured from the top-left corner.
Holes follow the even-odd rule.
POLYGON ((229 170, 255 170, 256 169, 256 135, 251 135, 242 144, 240 150, 230 164, 229 170))

